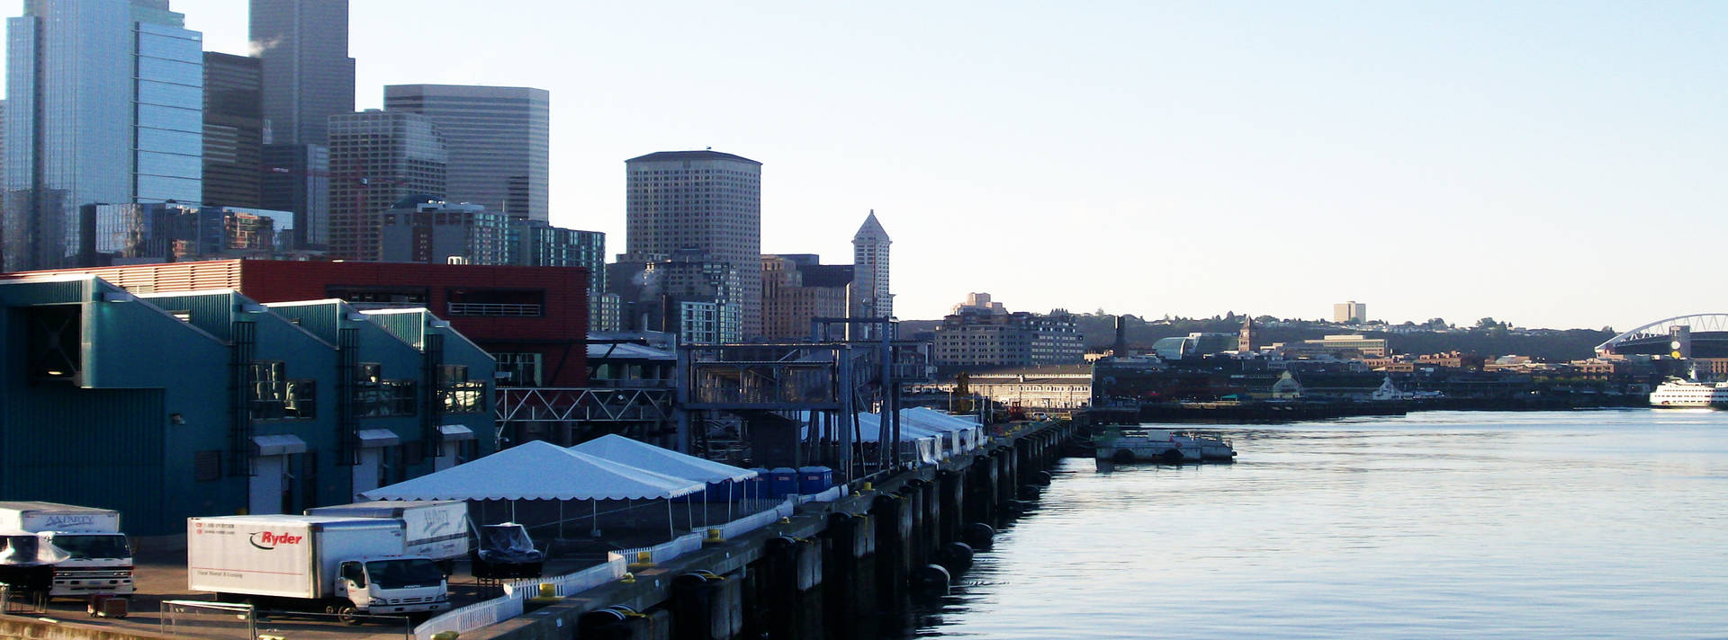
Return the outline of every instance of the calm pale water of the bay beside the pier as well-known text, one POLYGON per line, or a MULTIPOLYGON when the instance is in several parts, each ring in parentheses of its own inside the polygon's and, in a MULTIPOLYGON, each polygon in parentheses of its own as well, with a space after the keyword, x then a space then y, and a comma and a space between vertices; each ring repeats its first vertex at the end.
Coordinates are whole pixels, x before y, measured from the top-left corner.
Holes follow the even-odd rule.
POLYGON ((1210 428, 1070 459, 921 637, 1728 638, 1728 412, 1210 428))

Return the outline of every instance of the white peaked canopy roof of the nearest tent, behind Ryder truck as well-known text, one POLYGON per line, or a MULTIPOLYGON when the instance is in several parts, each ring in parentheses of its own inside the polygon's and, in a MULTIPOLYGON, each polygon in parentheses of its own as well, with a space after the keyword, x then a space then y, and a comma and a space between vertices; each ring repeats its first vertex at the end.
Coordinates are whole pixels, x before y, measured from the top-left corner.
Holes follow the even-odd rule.
POLYGON ((703 490, 550 442, 527 442, 468 464, 363 492, 368 500, 638 500, 703 490))

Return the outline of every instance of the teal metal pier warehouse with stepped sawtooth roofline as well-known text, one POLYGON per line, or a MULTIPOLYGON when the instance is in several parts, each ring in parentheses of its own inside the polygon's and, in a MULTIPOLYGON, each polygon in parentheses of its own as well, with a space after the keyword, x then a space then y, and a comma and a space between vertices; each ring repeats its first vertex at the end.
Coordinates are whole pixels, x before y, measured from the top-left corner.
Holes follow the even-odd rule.
POLYGON ((496 450, 492 357, 425 309, 0 279, 0 497, 299 512, 496 450))

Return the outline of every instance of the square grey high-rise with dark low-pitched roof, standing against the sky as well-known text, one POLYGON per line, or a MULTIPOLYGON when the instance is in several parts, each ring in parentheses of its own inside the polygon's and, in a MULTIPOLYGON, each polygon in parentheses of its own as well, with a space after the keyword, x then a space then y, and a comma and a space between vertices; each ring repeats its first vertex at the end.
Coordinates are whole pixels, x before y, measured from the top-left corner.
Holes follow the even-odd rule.
POLYGON ((702 250, 738 274, 741 331, 762 335, 762 162, 658 152, 624 160, 627 254, 702 250))

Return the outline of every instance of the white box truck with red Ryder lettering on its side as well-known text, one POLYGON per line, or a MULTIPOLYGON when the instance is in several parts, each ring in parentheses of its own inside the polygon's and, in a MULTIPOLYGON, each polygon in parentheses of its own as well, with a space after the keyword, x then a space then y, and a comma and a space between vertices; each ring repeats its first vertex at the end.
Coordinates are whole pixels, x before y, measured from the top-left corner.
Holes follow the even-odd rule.
POLYGON ((444 573, 408 555, 399 519, 219 516, 187 519, 187 583, 219 600, 354 616, 449 609, 444 573))

